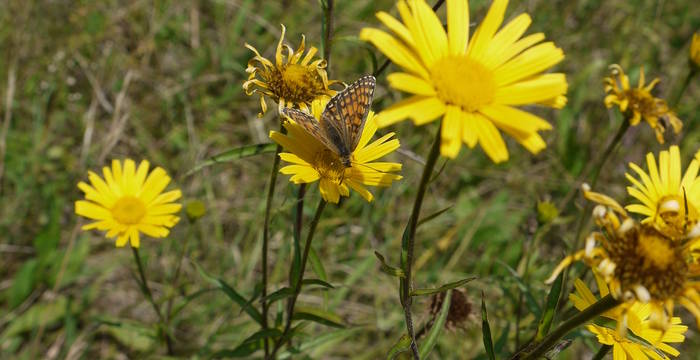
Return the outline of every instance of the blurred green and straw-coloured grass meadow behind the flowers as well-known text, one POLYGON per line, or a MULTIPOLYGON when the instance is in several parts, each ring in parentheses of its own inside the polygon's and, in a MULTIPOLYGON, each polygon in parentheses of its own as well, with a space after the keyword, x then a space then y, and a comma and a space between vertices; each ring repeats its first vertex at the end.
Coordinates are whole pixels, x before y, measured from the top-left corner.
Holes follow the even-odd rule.
MULTIPOLYGON (((489 3, 470 1, 475 24, 489 3)), ((384 61, 357 39, 362 27, 380 26, 374 17, 379 10, 396 14, 390 0, 336 2, 330 78, 351 82, 384 61)), ((438 12, 443 19, 444 12, 438 12)), ((548 291, 543 279, 572 250, 584 204, 575 192, 585 180, 581 174, 622 121, 616 110, 603 106, 608 65, 621 64, 633 84, 643 66, 647 79, 661 78, 655 94, 673 98, 688 73, 690 39, 700 28, 700 6, 693 1, 512 1, 506 17, 522 12, 533 17, 528 33, 544 32, 566 54, 555 70, 567 74, 568 105, 560 111, 532 110, 554 125, 544 134, 548 148, 541 154, 533 156, 508 139, 510 160, 494 165, 479 148, 463 148, 431 185, 423 214, 451 208, 418 231, 417 286, 478 276, 466 286, 477 310, 463 329, 443 333, 435 359, 485 358, 478 311, 482 291, 501 356, 515 350, 516 309, 522 313, 520 344, 532 336, 533 313, 548 291), (536 204, 542 200, 560 207, 560 216, 532 246, 536 204), (514 274, 527 253, 530 276, 523 281, 514 274), (519 291, 527 294, 522 306, 519 291)), ((316 1, 0 2, 0 358, 164 354, 155 314, 134 281, 130 251, 116 249, 100 233, 80 232, 74 215, 73 203, 82 195, 76 184, 113 158, 149 159, 164 167, 184 201, 200 200, 207 209, 194 224, 183 214, 165 240, 142 241, 154 295, 162 303, 172 299, 176 309, 176 355, 208 358, 257 330, 194 264, 246 297, 255 293, 272 154, 186 173, 227 149, 268 142, 268 131, 278 126, 272 104, 258 119, 258 98, 242 91, 252 56, 244 43, 273 56, 284 23, 293 47, 302 33, 319 46, 321 19, 316 1), (181 280, 173 284, 185 245, 181 280)), ((375 111, 401 98, 387 88, 385 76, 392 69, 378 79, 375 111)), ((681 146, 684 164, 700 148, 699 99, 696 77, 675 107, 683 132, 667 136, 667 144, 681 146)), ((326 210, 314 248, 336 288, 300 297, 302 305, 324 306, 349 326, 307 326, 299 338, 303 351, 293 358, 382 358, 403 332, 397 282, 379 270, 373 251, 398 264, 409 216, 402 209, 410 208, 422 170, 415 159, 427 153, 435 124, 415 128, 404 122, 381 131, 398 133, 402 150, 390 158, 404 164, 404 179, 374 191, 373 203, 354 194, 326 210)), ((625 200, 626 164, 641 164, 646 152, 667 146, 656 142, 645 123, 632 128, 598 189, 625 200)), ((278 181, 271 225, 273 288, 287 283, 296 196, 286 176, 278 181)), ((308 216, 318 197, 314 185, 308 216)), ((561 306, 555 321, 572 313, 568 304, 561 306)), ((419 324, 429 319, 429 308, 429 298, 416 300, 419 324)), ((272 308, 273 317, 278 311, 281 306, 272 308)), ((681 358, 700 358, 694 355, 700 353, 698 330, 686 315, 690 330, 681 358)), ((597 350, 589 333, 574 336, 579 340, 560 358, 584 359, 597 350)))

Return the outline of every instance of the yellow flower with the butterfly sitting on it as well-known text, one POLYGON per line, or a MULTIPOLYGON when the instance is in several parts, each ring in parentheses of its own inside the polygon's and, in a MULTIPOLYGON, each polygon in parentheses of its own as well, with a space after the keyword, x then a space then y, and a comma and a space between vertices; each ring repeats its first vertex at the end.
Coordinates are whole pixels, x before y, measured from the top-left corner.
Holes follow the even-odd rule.
MULTIPOLYGON (((320 119, 328 99, 315 100, 311 104, 311 113, 320 119)), ((288 121, 284 124, 287 135, 272 131, 270 138, 282 145, 285 150, 280 158, 292 165, 280 169, 295 184, 311 183, 320 180, 319 190, 323 199, 338 203, 340 196, 349 196, 350 188, 357 191, 365 200, 372 201, 372 193, 365 188, 368 186, 388 187, 395 180, 401 179, 398 174, 401 164, 392 162, 373 162, 399 148, 399 140, 391 139, 394 133, 389 133, 372 142, 377 132, 375 115, 369 112, 362 136, 357 148, 350 158, 352 166, 345 167, 337 154, 316 140, 304 128, 288 121), (390 140, 391 139, 391 140, 390 140)))

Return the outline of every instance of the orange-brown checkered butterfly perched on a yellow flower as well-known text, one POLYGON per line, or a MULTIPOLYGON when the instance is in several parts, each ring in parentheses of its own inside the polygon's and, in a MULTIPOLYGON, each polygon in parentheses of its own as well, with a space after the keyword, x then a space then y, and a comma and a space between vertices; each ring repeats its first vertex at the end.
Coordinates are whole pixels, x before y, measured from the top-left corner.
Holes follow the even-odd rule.
POLYGON ((350 167, 350 157, 362 137, 376 84, 372 75, 350 84, 331 98, 321 114, 321 121, 298 109, 284 108, 282 114, 338 155, 345 167, 350 167))

